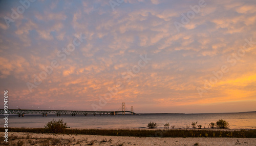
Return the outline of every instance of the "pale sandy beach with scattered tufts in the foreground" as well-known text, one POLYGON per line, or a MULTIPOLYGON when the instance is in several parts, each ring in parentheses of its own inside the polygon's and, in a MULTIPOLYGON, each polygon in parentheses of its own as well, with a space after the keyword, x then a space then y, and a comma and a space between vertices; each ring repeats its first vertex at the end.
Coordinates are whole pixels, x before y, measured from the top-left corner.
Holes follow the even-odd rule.
MULTIPOLYGON (((23 132, 10 132, 8 141, 9 145, 256 145, 256 138, 162 138, 23 132)), ((2 138, 1 145, 4 143, 2 138)))

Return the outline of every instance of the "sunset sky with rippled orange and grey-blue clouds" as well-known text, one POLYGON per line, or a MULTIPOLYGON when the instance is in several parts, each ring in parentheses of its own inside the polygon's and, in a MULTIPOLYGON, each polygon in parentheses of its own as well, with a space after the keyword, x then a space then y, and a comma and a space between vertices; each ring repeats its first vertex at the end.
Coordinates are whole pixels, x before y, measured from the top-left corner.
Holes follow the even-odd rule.
POLYGON ((256 1, 21 2, 0 2, 9 109, 256 111, 256 1))

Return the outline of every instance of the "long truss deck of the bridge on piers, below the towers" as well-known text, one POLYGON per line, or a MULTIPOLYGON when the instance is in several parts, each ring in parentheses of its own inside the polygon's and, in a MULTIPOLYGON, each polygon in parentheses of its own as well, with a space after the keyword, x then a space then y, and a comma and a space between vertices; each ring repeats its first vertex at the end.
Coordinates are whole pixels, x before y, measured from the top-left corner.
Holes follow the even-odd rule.
MULTIPOLYGON (((24 114, 29 114, 29 113, 36 113, 36 114, 42 114, 42 116, 47 114, 56 114, 57 116, 60 114, 71 114, 72 116, 76 114, 103 114, 103 115, 117 115, 117 113, 122 113, 123 111, 81 111, 81 110, 33 110, 33 109, 8 109, 8 112, 6 113, 4 109, 0 109, 0 114, 18 114, 18 116, 24 114)), ((136 114, 135 112, 132 111, 125 111, 125 112, 130 112, 131 114, 136 114)))

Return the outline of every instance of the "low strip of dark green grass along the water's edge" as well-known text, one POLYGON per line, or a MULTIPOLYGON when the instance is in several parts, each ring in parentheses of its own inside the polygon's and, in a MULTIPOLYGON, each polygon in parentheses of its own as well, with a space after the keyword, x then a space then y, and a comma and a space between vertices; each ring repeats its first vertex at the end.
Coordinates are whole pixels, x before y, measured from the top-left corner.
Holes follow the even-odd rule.
MULTIPOLYGON (((4 132, 5 128, 0 128, 0 131, 4 132)), ((50 133, 46 128, 8 128, 8 132, 50 133)), ((62 134, 156 137, 156 133, 161 133, 161 137, 220 137, 221 135, 221 137, 256 138, 255 129, 65 129, 62 134)))

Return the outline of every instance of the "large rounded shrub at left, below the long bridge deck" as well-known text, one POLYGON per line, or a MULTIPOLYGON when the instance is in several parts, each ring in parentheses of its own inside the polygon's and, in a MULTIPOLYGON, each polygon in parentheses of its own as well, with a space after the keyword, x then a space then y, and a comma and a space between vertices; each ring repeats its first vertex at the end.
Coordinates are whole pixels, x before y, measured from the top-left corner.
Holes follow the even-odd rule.
POLYGON ((46 130, 50 133, 64 133, 67 128, 67 123, 63 123, 63 120, 48 122, 45 126, 46 130))

